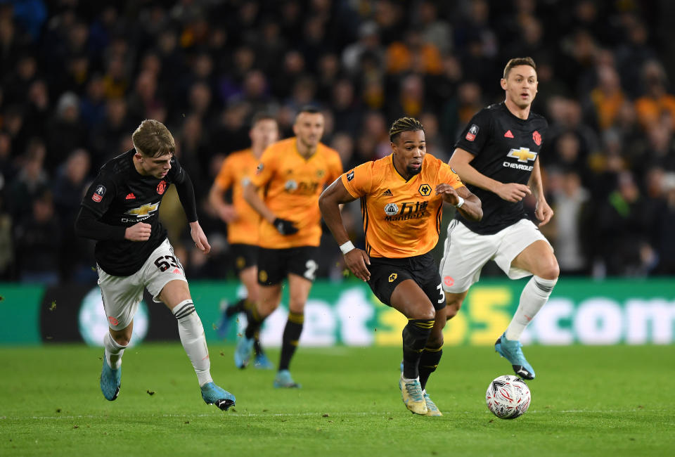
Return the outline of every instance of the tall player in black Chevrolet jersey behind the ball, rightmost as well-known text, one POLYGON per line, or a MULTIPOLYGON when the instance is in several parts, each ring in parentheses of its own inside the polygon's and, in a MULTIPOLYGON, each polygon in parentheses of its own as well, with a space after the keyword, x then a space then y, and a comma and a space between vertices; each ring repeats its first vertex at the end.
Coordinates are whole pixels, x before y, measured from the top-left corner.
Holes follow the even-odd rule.
POLYGON ((539 226, 551 220, 553 210, 544 198, 539 169, 548 123, 530 111, 537 84, 532 58, 509 60, 501 79, 506 100, 478 112, 456 143, 449 164, 482 201, 483 219, 470 221, 456 214, 448 226, 440 265, 447 318, 457 314, 489 260, 511 279, 533 275, 508 328, 494 345, 525 379, 534 378, 534 369, 522 354, 520 335, 548 300, 560 273, 553 247, 526 219, 522 202, 534 193, 539 226))

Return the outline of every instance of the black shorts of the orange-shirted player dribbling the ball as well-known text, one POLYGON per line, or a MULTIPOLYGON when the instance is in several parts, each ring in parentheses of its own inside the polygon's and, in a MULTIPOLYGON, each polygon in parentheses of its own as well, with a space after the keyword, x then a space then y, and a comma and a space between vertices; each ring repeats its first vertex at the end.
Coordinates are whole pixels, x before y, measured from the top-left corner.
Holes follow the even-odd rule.
POLYGON ((387 259, 371 257, 368 266, 371 280, 368 285, 380 302, 392 306, 391 298, 394 289, 401 281, 412 279, 429 297, 435 309, 445 307, 445 294, 441 285, 438 266, 430 252, 406 259, 387 259))

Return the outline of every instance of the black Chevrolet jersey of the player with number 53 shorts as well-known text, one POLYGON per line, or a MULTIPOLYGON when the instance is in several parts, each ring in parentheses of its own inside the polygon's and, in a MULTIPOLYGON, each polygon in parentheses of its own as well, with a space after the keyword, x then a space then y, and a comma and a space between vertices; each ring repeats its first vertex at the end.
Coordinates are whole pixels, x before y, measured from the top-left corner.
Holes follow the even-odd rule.
POLYGON ((82 200, 82 207, 93 212, 103 224, 120 227, 113 239, 96 242, 96 262, 113 276, 130 276, 139 271, 167 238, 159 219, 162 198, 169 185, 189 179, 176 157, 172 157, 171 169, 165 177, 143 176, 134 167, 135 153, 132 149, 106 162, 82 200), (150 238, 124 239, 124 230, 138 222, 152 226, 150 238))

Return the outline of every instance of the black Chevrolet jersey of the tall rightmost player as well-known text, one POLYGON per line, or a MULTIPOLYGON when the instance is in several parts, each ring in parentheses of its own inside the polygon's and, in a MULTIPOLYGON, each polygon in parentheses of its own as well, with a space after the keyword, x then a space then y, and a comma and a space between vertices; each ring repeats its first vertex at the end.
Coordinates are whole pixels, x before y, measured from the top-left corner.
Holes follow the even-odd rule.
MULTIPOLYGON (((472 153, 475 157, 471 166, 485 176, 502 183, 527 185, 546 129, 548 122, 544 117, 530 111, 527 120, 520 119, 502 102, 480 110, 462 132, 455 148, 472 153)), ((480 198, 483 209, 480 221, 470 221, 456 212, 456 219, 471 231, 491 235, 526 217, 522 200, 508 202, 494 192, 465 185, 480 198)))

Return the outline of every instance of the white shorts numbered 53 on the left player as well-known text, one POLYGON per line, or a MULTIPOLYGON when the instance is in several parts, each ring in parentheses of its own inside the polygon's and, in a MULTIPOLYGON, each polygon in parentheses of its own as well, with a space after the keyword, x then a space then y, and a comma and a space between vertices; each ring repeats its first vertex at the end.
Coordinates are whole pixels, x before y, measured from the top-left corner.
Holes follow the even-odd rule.
POLYGON ((143 300, 143 289, 148 288, 153 300, 159 303, 158 295, 169 281, 188 281, 169 240, 164 240, 141 269, 131 276, 112 276, 100 266, 97 265, 97 268, 105 316, 108 316, 108 326, 113 330, 129 326, 143 300))

